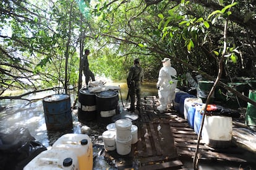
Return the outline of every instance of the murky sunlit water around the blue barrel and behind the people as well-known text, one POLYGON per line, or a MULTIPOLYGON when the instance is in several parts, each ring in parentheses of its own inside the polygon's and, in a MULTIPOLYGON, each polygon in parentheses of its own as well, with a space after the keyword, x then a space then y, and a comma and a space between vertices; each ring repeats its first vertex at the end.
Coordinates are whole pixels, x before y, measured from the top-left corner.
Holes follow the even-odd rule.
MULTIPOLYGON (((143 83, 142 96, 157 95, 155 84, 156 82, 143 83)), ((121 109, 121 112, 124 111, 121 103, 126 104, 128 91, 126 82, 107 82, 106 85, 121 87, 119 91, 119 109, 121 109)), ((0 100, 0 132, 9 134, 19 127, 25 127, 38 142, 48 149, 51 149, 51 145, 63 134, 88 134, 93 142, 93 155, 95 156, 93 169, 114 169, 114 166, 106 163, 104 156, 101 155, 103 150, 101 134, 106 130, 106 124, 95 124, 95 122, 83 124, 78 121, 77 109, 75 109, 72 111, 73 129, 61 132, 49 132, 46 129, 42 99, 54 94, 54 91, 47 91, 27 96, 30 100, 41 98, 41 100, 32 103, 26 100, 0 100)), ((74 98, 75 95, 70 95, 71 105, 74 103, 74 98)))

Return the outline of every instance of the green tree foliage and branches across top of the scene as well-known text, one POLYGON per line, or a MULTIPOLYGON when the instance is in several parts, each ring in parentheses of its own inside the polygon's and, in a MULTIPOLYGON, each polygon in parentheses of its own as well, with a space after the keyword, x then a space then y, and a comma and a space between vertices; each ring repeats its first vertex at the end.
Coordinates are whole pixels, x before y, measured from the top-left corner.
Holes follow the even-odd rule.
POLYGON ((90 69, 126 79, 140 57, 146 79, 156 79, 170 57, 179 78, 196 70, 215 77, 228 25, 225 77, 255 78, 255 2, 16 1, 0 5, 0 90, 76 88, 83 49, 90 69))

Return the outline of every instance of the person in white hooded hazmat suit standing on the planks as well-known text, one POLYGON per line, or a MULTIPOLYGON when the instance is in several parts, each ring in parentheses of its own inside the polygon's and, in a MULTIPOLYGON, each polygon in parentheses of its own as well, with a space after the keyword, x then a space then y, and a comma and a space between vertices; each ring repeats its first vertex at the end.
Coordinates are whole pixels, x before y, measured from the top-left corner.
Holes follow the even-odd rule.
POLYGON ((159 71, 158 82, 156 83, 160 100, 160 106, 157 107, 158 111, 171 108, 177 87, 177 80, 174 79, 177 76, 177 71, 171 67, 171 59, 164 58, 162 62, 163 67, 159 71))

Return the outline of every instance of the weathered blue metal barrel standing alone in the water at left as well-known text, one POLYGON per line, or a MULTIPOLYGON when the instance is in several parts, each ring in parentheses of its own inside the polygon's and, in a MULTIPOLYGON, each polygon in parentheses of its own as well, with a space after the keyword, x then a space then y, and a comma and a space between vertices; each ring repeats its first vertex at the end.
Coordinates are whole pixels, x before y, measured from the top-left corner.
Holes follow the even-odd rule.
POLYGON ((43 98, 45 123, 48 130, 72 129, 69 95, 50 95, 43 98))

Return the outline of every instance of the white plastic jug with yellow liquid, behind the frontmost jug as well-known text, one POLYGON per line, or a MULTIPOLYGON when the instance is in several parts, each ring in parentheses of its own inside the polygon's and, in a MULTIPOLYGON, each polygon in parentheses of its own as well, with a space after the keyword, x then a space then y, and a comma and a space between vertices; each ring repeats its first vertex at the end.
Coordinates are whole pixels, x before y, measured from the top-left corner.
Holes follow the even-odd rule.
POLYGON ((53 143, 53 150, 74 151, 79 161, 79 169, 93 168, 92 140, 86 134, 65 134, 53 143))

